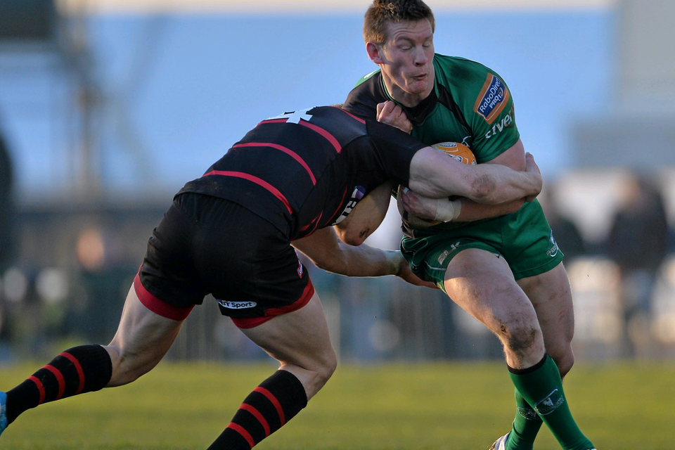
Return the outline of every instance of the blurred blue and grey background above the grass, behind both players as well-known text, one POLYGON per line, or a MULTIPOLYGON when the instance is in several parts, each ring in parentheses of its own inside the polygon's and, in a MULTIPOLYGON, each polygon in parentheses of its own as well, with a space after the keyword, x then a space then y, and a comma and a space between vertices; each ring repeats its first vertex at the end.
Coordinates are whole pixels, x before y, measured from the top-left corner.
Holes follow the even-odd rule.
MULTIPOLYGON (((368 4, 0 0, 0 364, 108 343, 174 193, 260 120, 375 69, 368 4)), ((436 51, 510 86, 577 359, 675 359, 675 3, 428 4, 436 51)), ((368 243, 399 237, 394 208, 368 243)), ((502 358, 440 291, 309 270, 342 361, 502 358)), ((206 300, 169 358, 266 356, 206 300)))

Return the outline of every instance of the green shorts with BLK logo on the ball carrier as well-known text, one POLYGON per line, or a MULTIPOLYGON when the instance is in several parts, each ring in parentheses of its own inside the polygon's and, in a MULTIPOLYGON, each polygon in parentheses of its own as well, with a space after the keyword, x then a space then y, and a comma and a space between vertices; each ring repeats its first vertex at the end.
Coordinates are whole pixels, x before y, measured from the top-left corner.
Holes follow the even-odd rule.
POLYGON ((544 274, 563 261, 563 252, 555 243, 551 226, 536 200, 496 219, 429 236, 401 239, 401 253, 413 273, 442 289, 449 262, 468 248, 501 255, 517 280, 544 274))

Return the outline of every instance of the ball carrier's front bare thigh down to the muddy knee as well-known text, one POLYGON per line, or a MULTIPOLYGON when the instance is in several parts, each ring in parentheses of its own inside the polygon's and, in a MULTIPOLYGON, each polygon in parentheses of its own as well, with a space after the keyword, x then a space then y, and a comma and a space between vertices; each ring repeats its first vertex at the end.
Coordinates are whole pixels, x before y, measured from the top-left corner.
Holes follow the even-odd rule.
POLYGON ((536 329, 536 314, 507 262, 477 248, 459 252, 445 274, 449 297, 497 335, 506 329, 536 329))

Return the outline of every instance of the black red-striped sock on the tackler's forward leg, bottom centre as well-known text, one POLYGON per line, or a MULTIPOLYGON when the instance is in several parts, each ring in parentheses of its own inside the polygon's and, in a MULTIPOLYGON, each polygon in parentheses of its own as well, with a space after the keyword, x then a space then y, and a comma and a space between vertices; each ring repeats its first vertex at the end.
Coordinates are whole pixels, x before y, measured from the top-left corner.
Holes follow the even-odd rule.
POLYGON ((307 393, 293 373, 276 371, 244 399, 208 450, 250 450, 307 406, 307 393))

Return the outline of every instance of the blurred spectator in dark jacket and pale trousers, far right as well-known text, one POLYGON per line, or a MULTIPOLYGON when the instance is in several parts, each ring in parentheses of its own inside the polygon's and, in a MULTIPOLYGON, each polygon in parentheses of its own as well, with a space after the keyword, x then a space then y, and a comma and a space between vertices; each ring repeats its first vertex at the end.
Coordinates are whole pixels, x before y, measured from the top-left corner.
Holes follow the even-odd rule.
POLYGON ((631 174, 608 236, 608 256, 619 266, 624 315, 623 352, 650 345, 649 312, 658 270, 667 253, 668 222, 660 191, 631 174))

